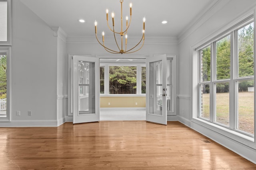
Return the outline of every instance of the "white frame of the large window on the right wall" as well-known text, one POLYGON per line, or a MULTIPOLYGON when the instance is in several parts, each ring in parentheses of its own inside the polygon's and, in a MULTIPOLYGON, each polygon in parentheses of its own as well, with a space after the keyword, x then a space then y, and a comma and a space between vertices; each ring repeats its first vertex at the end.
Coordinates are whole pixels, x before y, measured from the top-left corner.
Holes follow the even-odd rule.
MULTIPOLYGON (((248 25, 249 23, 251 22, 254 22, 254 35, 256 35, 256 19, 254 18, 253 19, 253 14, 251 14, 250 16, 244 16, 243 19, 240 19, 240 21, 236 21, 236 23, 234 23, 234 25, 232 27, 228 27, 226 30, 223 31, 223 33, 220 33, 220 34, 217 34, 215 37, 212 37, 210 38, 210 40, 208 41, 205 41, 203 43, 198 44, 196 45, 196 47, 192 47, 191 49, 191 53, 192 53, 192 78, 191 78, 191 81, 192 81, 192 89, 191 89, 191 109, 192 109, 192 114, 191 114, 191 121, 198 124, 198 125, 201 125, 202 127, 204 128, 207 128, 207 129, 211 129, 212 131, 215 131, 216 133, 219 133, 219 134, 222 134, 230 139, 233 139, 235 141, 238 141, 240 143, 243 143, 244 145, 247 145, 249 147, 252 147, 254 149, 256 149, 256 131, 254 130, 254 135, 248 135, 247 133, 241 133, 241 131, 238 131, 236 130, 234 127, 234 116, 235 116, 235 112, 230 110, 230 113, 232 111, 232 113, 234 114, 231 114, 231 115, 234 115, 233 117, 230 117, 230 119, 232 119, 232 122, 230 122, 230 128, 227 128, 227 127, 224 127, 218 123, 214 123, 214 122, 211 122, 211 121, 208 121, 208 120, 205 120, 205 119, 201 119, 199 118, 199 113, 200 113, 200 92, 199 92, 199 88, 198 88, 198 85, 200 84, 200 64, 199 64, 199 50, 200 49, 203 49, 204 47, 207 47, 209 45, 211 45, 212 43, 214 43, 215 41, 218 41, 218 39, 221 39, 221 37, 224 37, 225 35, 228 35, 228 34, 234 34, 236 31, 235 30, 238 30, 240 29, 241 27, 244 27, 245 25, 248 25), (233 128, 233 129, 232 129, 233 128)), ((232 39, 232 38, 231 38, 232 39)), ((255 44, 256 44, 256 41, 255 41, 256 37, 254 36, 254 58, 256 56, 256 49, 255 49, 255 44)), ((232 42, 231 42, 232 43, 232 42)), ((211 48, 212 50, 212 48, 211 48)), ((232 48, 231 46, 231 58, 230 58, 230 62, 236 62, 236 61, 233 61, 233 57, 232 57, 232 51, 235 51, 235 49, 232 48)), ((211 57, 211 66, 213 66, 213 59, 211 57)), ((236 64, 236 63, 235 63, 236 64)), ((230 64, 230 70, 233 70, 234 64, 230 64)), ((256 72, 256 67, 255 67, 255 62, 254 62, 254 74, 256 72)), ((232 74, 234 73, 230 73, 230 79, 234 79, 233 80, 230 80, 230 82, 235 82, 236 80, 238 80, 238 78, 236 76, 233 76, 232 74)), ((213 72, 212 72, 212 68, 211 68, 211 76, 213 75, 213 72)), ((248 77, 249 79, 251 77, 248 77)), ((243 79, 244 80, 244 79, 243 79)), ((212 81, 212 80, 211 80, 212 81)), ((254 78, 254 84, 255 84, 255 78, 254 78)), ((234 90, 234 86, 233 84, 230 83, 230 91, 231 90, 234 90)), ((254 129, 256 129, 256 124, 255 124, 255 93, 254 92, 254 129)), ((214 95, 214 94, 212 94, 214 95)), ((232 93, 231 95, 234 95, 234 93, 232 93)), ((232 99, 230 99, 231 101, 232 99)), ((212 101, 213 102, 213 101, 212 101)), ((231 103, 231 102, 230 102, 231 103)), ((235 101, 232 103, 232 107, 231 108, 234 108, 234 104, 235 104, 235 101)), ((210 105, 213 106, 212 103, 210 103, 210 105)))

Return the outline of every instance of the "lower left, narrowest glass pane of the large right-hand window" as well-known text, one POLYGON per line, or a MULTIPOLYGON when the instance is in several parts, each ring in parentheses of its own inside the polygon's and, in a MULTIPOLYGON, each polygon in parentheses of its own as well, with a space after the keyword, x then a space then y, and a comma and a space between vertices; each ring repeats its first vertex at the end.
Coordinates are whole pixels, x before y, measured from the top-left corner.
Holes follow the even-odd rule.
POLYGON ((200 117, 210 120, 210 84, 200 86, 200 117))

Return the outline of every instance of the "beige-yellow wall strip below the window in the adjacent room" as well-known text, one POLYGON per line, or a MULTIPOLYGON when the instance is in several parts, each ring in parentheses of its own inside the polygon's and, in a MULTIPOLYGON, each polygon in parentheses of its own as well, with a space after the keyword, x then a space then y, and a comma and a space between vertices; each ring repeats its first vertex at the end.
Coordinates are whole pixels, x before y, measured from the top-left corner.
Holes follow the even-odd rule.
POLYGON ((124 97, 124 96, 102 96, 100 97, 100 107, 146 107, 146 97, 145 96, 134 96, 134 97, 124 97), (110 103, 110 105, 108 105, 110 103), (137 103, 137 105, 136 105, 137 103))

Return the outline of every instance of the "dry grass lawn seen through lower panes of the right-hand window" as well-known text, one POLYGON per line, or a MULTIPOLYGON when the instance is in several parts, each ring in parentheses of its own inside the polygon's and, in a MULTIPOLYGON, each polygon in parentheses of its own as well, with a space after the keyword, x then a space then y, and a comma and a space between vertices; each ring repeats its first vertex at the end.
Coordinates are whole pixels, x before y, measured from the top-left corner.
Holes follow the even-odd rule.
MULTIPOLYGON (((210 95, 203 94, 202 115, 209 119, 210 95)), ((229 126, 229 93, 216 94, 216 120, 215 122, 229 126)), ((238 128, 254 134, 254 92, 238 93, 238 128)))

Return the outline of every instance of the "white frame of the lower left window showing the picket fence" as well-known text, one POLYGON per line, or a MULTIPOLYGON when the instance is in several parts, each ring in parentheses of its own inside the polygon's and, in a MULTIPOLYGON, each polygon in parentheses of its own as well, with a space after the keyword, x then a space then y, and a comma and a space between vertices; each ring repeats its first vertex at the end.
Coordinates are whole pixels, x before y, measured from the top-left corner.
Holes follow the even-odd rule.
POLYGON ((5 54, 6 58, 7 58, 7 90, 6 90, 6 94, 7 94, 7 99, 6 99, 6 103, 7 103, 7 110, 6 110, 6 117, 0 117, 0 122, 6 122, 6 121, 11 121, 11 47, 0 47, 0 53, 1 54, 5 54))

